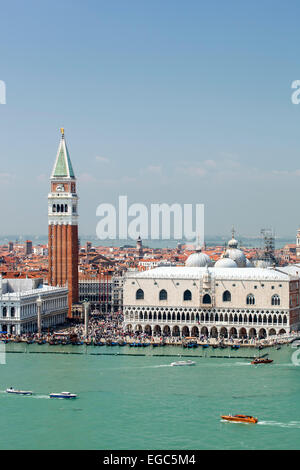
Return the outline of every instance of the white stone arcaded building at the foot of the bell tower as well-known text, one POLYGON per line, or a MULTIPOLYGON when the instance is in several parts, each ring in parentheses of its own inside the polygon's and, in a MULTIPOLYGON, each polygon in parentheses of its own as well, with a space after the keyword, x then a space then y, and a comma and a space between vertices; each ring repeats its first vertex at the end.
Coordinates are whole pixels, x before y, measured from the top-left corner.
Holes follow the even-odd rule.
POLYGON ((2 279, 0 277, 0 330, 23 334, 37 331, 37 299, 41 297, 42 328, 65 322, 68 289, 43 285, 41 279, 2 279))

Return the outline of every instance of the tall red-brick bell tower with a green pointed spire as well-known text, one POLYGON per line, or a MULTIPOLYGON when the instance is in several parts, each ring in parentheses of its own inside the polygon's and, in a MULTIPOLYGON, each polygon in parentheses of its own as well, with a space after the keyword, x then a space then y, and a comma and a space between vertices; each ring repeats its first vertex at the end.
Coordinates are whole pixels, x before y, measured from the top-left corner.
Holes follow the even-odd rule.
POLYGON ((69 289, 69 313, 78 302, 78 196, 76 178, 65 141, 64 129, 50 178, 48 195, 48 257, 51 286, 69 289))

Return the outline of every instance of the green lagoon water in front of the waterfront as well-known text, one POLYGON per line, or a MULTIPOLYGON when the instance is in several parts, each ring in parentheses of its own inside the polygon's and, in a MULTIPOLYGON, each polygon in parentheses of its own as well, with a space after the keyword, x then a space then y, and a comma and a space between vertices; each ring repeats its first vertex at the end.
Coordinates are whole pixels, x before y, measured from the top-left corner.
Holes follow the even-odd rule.
POLYGON ((274 363, 260 366, 240 358, 252 349, 14 344, 7 351, 15 353, 0 365, 1 449, 300 449, 300 367, 290 346, 263 350, 274 363), (170 367, 179 353, 196 366, 170 367), (9 395, 10 386, 35 395, 9 395), (78 398, 48 397, 65 390, 78 398), (259 423, 222 421, 228 413, 259 423))

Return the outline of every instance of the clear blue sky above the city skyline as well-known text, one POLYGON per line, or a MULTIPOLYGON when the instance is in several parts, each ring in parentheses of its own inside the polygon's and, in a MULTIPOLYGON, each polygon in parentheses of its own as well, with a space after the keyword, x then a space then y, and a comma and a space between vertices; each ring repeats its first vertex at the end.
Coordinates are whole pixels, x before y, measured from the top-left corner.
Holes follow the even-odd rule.
POLYGON ((96 207, 204 203, 205 232, 300 226, 299 1, 1 2, 1 234, 47 232, 66 139, 96 207))

